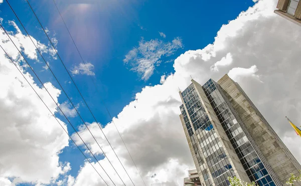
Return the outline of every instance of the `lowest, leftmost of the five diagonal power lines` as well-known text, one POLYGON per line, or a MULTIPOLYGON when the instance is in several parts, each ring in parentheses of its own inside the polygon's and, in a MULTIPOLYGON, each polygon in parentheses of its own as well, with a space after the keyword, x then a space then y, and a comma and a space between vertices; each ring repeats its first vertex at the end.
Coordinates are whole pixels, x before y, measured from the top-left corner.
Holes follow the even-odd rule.
MULTIPOLYGON (((12 63, 15 65, 15 67, 18 69, 18 71, 22 74, 22 76, 24 77, 24 79, 27 81, 27 83, 29 84, 29 86, 33 89, 33 91, 35 91, 35 93, 37 94, 37 96, 40 98, 40 100, 43 102, 43 104, 47 107, 47 109, 49 110, 49 112, 52 114, 52 116, 56 119, 56 121, 59 123, 59 125, 63 128, 63 130, 65 131, 65 133, 69 136, 69 138, 73 141, 73 143, 75 144, 75 146, 79 149, 79 151, 85 156, 85 158, 87 159, 87 161, 91 164, 91 166, 94 168, 94 170, 97 172, 97 174, 100 176, 100 178, 105 182, 105 180, 102 178, 102 176, 99 174, 99 172, 96 170, 96 168, 93 166, 93 164, 90 162, 90 160, 87 158, 87 156, 84 154, 84 152, 79 148, 79 146, 77 146, 77 144, 75 143, 75 141, 71 138, 71 136, 69 135, 69 133, 65 130, 65 128, 62 126, 62 124, 59 122, 59 120, 55 117, 54 113, 51 112, 51 110, 49 109, 49 107, 46 105, 46 103, 43 101, 43 99, 41 98, 41 96, 37 93, 37 91, 34 89, 34 87, 30 84, 30 82, 27 80, 27 78, 24 76, 24 74, 20 71, 20 69, 18 68, 18 66, 14 63, 13 59, 8 55, 8 53, 4 50, 4 48, 0 45, 0 47, 2 48, 2 50, 5 52, 5 54, 7 55, 7 57, 12 61, 12 63)), ((105 182, 106 183, 106 182, 105 182)), ((106 185, 108 185, 106 183, 106 185)))

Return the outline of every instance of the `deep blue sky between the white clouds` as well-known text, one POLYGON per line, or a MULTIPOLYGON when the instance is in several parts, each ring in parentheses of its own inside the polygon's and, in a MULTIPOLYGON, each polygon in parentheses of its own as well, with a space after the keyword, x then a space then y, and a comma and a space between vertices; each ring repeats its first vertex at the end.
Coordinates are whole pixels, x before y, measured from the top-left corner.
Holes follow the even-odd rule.
MULTIPOLYGON (((61 18, 52 1, 30 1, 42 25, 49 30, 52 38, 58 41, 58 52, 69 70, 81 63, 81 59, 73 46, 71 38, 63 25, 61 18)), ((241 11, 254 5, 248 1, 57 1, 58 7, 66 24, 74 37, 85 62, 91 63, 95 76, 85 74, 72 75, 85 100, 90 106, 97 120, 103 125, 110 121, 104 100, 112 116, 117 116, 123 107, 134 99, 136 93, 147 85, 160 83, 161 76, 174 73, 174 63, 178 56, 188 50, 197 50, 214 42, 214 37, 223 24, 234 20, 241 11), (162 37, 160 32, 166 37, 162 37), (141 79, 141 74, 130 70, 131 65, 123 60, 129 51, 137 48, 139 42, 158 41, 162 45, 171 43, 179 37, 182 46, 170 55, 160 57, 162 61, 156 66, 154 74, 149 79, 141 79), (168 62, 172 61, 172 62, 168 62), (167 63, 168 62, 168 63, 167 63), (91 79, 97 84, 99 92, 91 79)), ((11 1, 11 5, 20 17, 31 36, 48 43, 36 18, 26 1, 11 1)), ((4 26, 13 31, 7 21, 14 20, 23 34, 20 23, 13 15, 9 6, 4 2, 0 5, 1 17, 5 19, 4 26)), ((43 71, 45 65, 30 60, 42 81, 50 81, 55 87, 59 85, 49 70, 43 71)), ((67 94, 78 105, 79 112, 86 122, 94 122, 93 117, 84 105, 70 78, 59 60, 50 55, 46 57, 50 67, 58 77, 67 94)), ((28 72, 31 71, 28 69, 28 72)), ((60 89, 60 88, 59 88, 60 89)), ((59 103, 64 103, 66 96, 61 93, 59 103)), ((63 121, 66 120, 57 113, 63 121)), ((70 117, 76 127, 82 124, 79 117, 70 117)), ((68 125, 68 130, 73 130, 68 125)), ((71 143, 70 143, 71 144, 71 143)), ((99 157, 100 158, 100 157, 99 157)), ((66 147, 60 154, 60 161, 69 161, 72 166, 72 176, 76 176, 84 157, 74 148, 66 147)))

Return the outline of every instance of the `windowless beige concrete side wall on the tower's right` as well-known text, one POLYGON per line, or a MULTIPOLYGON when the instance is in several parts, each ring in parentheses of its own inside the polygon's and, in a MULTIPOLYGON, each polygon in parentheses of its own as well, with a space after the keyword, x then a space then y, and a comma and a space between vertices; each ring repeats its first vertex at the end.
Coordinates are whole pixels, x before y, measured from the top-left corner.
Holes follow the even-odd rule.
POLYGON ((236 82, 225 75, 218 84, 255 141, 263 158, 284 185, 290 173, 298 173, 298 170, 301 170, 300 164, 236 82))

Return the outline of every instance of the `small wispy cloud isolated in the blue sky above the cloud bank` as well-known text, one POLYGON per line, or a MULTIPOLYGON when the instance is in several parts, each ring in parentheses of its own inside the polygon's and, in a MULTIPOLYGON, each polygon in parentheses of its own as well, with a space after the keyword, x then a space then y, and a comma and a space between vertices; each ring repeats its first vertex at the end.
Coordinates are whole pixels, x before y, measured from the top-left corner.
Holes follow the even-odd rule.
POLYGON ((154 74, 155 65, 159 66, 161 57, 171 56, 179 48, 182 48, 182 40, 175 38, 172 42, 161 40, 139 42, 139 46, 133 48, 125 55, 124 63, 129 63, 132 70, 141 75, 142 80, 148 80, 154 74))

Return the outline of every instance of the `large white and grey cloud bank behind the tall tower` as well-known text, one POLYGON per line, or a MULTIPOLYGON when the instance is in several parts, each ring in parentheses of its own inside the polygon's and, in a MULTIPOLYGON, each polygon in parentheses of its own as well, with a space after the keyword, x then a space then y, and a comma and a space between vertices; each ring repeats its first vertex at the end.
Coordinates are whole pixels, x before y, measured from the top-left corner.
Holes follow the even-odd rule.
MULTIPOLYGON (((301 71, 298 70, 301 69, 301 43, 298 42, 301 40, 301 28, 275 15, 276 3, 276 0, 258 1, 235 20, 223 25, 213 44, 179 56, 174 63, 174 74, 162 77, 160 85, 144 87, 136 94, 135 100, 114 118, 147 185, 182 185, 183 178, 187 176, 186 170, 194 166, 179 119, 181 100, 178 87, 184 90, 191 83, 190 75, 203 84, 209 78, 218 80, 229 73, 296 159, 301 160, 301 146, 296 145, 298 136, 284 118, 289 114, 295 123, 301 123, 301 71), (217 63, 230 58, 231 63, 217 63), (216 66, 218 71, 211 70, 212 66, 216 66)), ((138 48, 128 53, 125 62, 141 58, 138 48)), ((135 61, 135 65, 137 68, 139 60, 135 61)), ((118 161, 114 160, 99 128, 95 123, 89 127, 118 167, 118 161)), ((103 130, 126 168, 131 171, 136 184, 142 184, 121 139, 116 137, 118 133, 114 125, 108 123, 103 130)), ((86 129, 82 128, 81 133, 86 134, 86 129)), ((77 142, 80 141, 77 139, 77 142)), ((87 142, 93 151, 101 153, 92 139, 87 142)), ((105 161, 106 158, 100 162, 105 164, 105 161)), ((118 170, 129 183, 122 168, 118 170)), ((91 174, 91 167, 83 166, 75 178, 75 184, 97 185, 98 180, 84 179, 91 174)), ((113 171, 110 174, 114 177, 113 171)), ((95 177, 93 179, 98 179, 95 177)))

